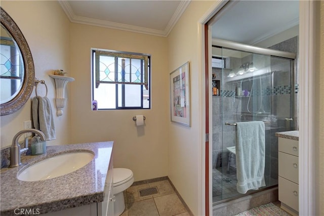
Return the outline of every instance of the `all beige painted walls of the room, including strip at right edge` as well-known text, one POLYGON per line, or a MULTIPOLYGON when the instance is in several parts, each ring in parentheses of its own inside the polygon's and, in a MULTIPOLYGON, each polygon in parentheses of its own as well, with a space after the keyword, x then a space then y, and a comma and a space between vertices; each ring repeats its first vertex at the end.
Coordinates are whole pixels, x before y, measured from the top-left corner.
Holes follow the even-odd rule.
MULTIPOLYGON (((201 168, 201 70, 198 20, 214 1, 192 1, 170 35, 157 37, 88 25, 70 24, 54 1, 2 1, 1 6, 23 32, 34 60, 35 76, 48 85, 48 98, 54 114, 54 81, 52 69, 64 69, 75 78, 68 84, 68 102, 63 116, 55 116, 57 139, 49 145, 114 140, 114 166, 134 171, 135 180, 169 176, 195 215, 199 206, 201 168), (50 26, 50 27, 49 27, 50 26), (148 53, 152 55, 152 109, 91 111, 90 48, 148 53), (170 122, 169 73, 185 62, 191 72, 191 127, 170 122), (132 117, 144 114, 144 128, 135 126, 132 117), (72 129, 71 129, 71 128, 72 129)), ((320 3, 320 19, 324 6, 320 3)), ((319 47, 323 47, 323 25, 319 25, 319 47)), ((319 52, 316 87, 316 113, 319 115, 317 167, 317 212, 323 214, 323 49, 319 52)), ((39 94, 43 94, 40 91, 39 94)), ((34 97, 32 93, 31 97, 34 97)), ((12 137, 30 120, 30 101, 18 112, 1 116, 1 147, 9 146, 12 137)))

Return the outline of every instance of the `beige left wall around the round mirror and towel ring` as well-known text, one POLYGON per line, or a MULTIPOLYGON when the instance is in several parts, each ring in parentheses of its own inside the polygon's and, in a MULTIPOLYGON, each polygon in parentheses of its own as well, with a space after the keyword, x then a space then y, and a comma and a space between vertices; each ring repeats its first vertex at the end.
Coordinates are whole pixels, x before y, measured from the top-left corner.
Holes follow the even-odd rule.
MULTIPOLYGON (((56 137, 48 145, 68 143, 68 106, 63 116, 56 116, 54 81, 48 76, 53 69, 69 71, 69 20, 56 1, 1 1, 1 7, 13 18, 25 36, 34 61, 35 77, 44 79, 48 98, 54 112, 56 137)), ((38 95, 45 95, 40 86, 38 95)), ((35 96, 33 90, 31 98, 35 96)), ((1 147, 11 145, 14 135, 23 129, 23 122, 31 120, 31 100, 19 111, 1 116, 1 147)), ((23 137, 23 136, 22 136, 23 137)))

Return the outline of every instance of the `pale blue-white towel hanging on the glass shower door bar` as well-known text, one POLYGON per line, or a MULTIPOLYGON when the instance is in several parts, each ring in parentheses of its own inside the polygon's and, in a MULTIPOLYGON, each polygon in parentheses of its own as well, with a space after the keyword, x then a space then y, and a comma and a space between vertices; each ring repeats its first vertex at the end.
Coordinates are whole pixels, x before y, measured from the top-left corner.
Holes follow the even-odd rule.
POLYGON ((265 186, 265 131, 263 121, 237 122, 236 189, 245 194, 265 186))

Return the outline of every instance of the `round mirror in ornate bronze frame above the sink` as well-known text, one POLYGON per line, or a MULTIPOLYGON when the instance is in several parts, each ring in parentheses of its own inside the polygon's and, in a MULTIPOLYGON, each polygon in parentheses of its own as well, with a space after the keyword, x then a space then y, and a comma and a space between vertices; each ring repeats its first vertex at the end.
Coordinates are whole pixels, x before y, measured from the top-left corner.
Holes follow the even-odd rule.
POLYGON ((19 110, 34 86, 34 64, 27 41, 17 24, 1 8, 1 115, 19 110))

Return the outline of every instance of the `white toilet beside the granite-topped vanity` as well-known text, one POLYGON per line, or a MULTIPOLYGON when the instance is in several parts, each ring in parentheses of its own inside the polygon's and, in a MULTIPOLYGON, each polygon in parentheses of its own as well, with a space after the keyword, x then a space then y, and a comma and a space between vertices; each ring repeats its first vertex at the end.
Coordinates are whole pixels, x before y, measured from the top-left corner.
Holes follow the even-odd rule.
POLYGON ((134 182, 133 171, 127 168, 113 168, 113 215, 119 216, 125 210, 124 193, 134 182))

